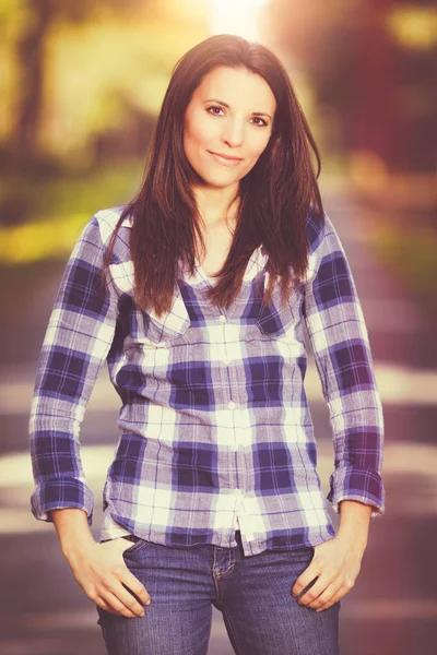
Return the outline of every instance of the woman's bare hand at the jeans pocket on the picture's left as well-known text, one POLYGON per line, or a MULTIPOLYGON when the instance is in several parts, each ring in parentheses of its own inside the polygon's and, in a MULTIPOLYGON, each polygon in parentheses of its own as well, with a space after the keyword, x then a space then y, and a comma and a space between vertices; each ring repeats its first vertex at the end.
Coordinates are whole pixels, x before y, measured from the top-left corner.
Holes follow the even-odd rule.
POLYGON ((110 614, 134 618, 144 616, 144 608, 123 584, 144 605, 149 605, 151 598, 144 585, 125 563, 122 553, 131 546, 123 537, 103 544, 93 540, 71 549, 66 558, 90 600, 110 614))

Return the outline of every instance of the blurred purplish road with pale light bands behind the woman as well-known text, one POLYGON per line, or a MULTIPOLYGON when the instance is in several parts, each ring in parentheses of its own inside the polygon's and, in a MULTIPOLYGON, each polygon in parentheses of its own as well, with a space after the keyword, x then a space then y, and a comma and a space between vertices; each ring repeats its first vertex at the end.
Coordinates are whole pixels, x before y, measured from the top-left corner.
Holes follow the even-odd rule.
MULTIPOLYGON (((386 515, 371 522, 355 587, 341 611, 341 655, 434 655, 437 644, 437 348, 424 309, 387 275, 369 249, 371 226, 353 198, 326 194, 326 209, 344 243, 374 353, 385 407, 386 515)), ((58 281, 47 282, 26 330, 40 342, 58 281), (32 333, 32 334, 31 334, 32 333), (37 335, 37 338, 35 337, 37 335)), ((17 335, 11 335, 11 340, 17 335)), ((20 336, 23 338, 23 336, 20 336)), ((1 636, 4 655, 104 655, 94 606, 64 561, 51 524, 31 514, 33 491, 27 413, 34 361, 3 367, 0 378, 1 636)), ((105 371, 106 372, 106 371, 105 371)), ((333 466, 331 430, 310 362, 306 389, 328 492, 333 466)), ((98 538, 101 495, 117 441, 117 396, 104 378, 82 429, 82 452, 95 493, 98 538)), ((336 516, 333 516, 336 523, 336 516)), ((214 609, 210 655, 232 655, 214 609)))

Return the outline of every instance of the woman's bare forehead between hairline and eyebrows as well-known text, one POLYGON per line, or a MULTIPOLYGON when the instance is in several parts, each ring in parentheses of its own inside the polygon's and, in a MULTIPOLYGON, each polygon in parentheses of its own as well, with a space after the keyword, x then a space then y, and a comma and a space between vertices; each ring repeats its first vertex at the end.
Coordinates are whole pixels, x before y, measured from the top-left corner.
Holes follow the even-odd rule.
POLYGON ((276 102, 269 84, 261 75, 244 68, 217 67, 210 71, 193 93, 193 99, 215 98, 231 108, 250 111, 274 111, 276 102))

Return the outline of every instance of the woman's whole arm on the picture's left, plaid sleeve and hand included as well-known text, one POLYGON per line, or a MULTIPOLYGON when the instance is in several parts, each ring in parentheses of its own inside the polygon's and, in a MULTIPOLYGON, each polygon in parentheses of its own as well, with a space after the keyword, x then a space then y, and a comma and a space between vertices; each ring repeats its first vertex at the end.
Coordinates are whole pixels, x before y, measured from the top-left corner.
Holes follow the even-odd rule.
POLYGON ((71 253, 43 343, 32 403, 29 433, 36 489, 32 511, 51 521, 72 573, 101 608, 143 616, 143 584, 129 571, 126 539, 95 543, 90 529, 93 495, 85 484, 79 432, 85 406, 109 352, 118 298, 101 284, 104 245, 96 217, 71 253))

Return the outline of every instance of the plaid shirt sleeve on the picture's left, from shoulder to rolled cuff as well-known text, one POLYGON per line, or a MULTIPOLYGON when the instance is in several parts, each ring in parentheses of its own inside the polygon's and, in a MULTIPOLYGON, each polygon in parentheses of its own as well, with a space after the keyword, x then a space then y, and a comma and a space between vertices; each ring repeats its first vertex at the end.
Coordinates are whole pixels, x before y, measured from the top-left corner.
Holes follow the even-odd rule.
POLYGON ((78 508, 92 524, 94 499, 85 484, 79 434, 116 324, 116 294, 111 285, 102 285, 103 254, 94 216, 67 263, 37 366, 29 417, 36 485, 31 505, 42 521, 51 521, 50 510, 78 508))

